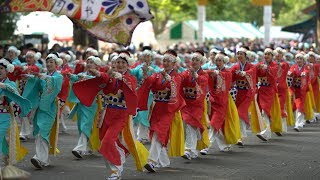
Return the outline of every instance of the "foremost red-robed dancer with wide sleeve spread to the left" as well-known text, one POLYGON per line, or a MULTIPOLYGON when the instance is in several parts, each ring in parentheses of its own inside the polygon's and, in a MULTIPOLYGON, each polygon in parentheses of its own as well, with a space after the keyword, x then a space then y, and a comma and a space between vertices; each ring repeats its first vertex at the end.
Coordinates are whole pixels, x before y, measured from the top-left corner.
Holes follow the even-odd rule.
POLYGON ((100 90, 105 95, 107 106, 101 112, 104 117, 99 132, 101 140, 99 152, 111 168, 112 174, 108 178, 110 180, 121 178, 130 147, 127 144, 128 150, 120 142, 119 135, 127 125, 130 115, 135 114, 137 107, 137 82, 128 72, 129 59, 129 52, 123 51, 115 60, 116 71, 104 73, 92 70, 92 74, 97 78, 80 81, 73 85, 76 96, 86 106, 92 104, 100 90))

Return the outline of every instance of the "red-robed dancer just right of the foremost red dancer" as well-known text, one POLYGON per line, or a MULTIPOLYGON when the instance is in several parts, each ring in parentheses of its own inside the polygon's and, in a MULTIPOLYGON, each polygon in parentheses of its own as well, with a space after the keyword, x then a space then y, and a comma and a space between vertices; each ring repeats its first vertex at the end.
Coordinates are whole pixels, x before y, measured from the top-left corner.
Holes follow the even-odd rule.
MULTIPOLYGON (((149 92, 152 91, 154 94, 155 104, 150 118, 150 155, 148 163, 145 165, 145 168, 150 172, 155 172, 154 168, 157 165, 161 167, 170 165, 166 148, 169 141, 170 128, 175 114, 185 105, 185 101, 180 95, 181 76, 175 69, 176 62, 177 53, 174 50, 167 50, 163 58, 164 71, 146 78, 138 90, 138 107, 141 110, 148 109, 149 92)), ((175 134, 178 133, 175 132, 175 134)), ((172 146, 171 141, 170 143, 172 146)))

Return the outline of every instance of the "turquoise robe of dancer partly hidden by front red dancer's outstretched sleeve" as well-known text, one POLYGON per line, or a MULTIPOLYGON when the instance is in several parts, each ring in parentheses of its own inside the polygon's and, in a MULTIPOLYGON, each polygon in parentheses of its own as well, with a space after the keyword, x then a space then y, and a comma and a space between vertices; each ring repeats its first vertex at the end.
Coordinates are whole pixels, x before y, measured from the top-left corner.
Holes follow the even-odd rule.
MULTIPOLYGON (((94 76, 87 75, 86 72, 79 73, 78 75, 71 75, 71 85, 79 80, 79 75, 83 75, 85 79, 94 78, 94 76)), ((90 107, 87 107, 80 103, 77 96, 74 94, 72 88, 70 90, 69 98, 70 102, 76 103, 69 118, 72 119, 75 115, 77 115, 77 124, 78 124, 78 131, 79 134, 84 133, 88 138, 91 136, 93 121, 97 113, 98 104, 96 101, 93 101, 90 107)))

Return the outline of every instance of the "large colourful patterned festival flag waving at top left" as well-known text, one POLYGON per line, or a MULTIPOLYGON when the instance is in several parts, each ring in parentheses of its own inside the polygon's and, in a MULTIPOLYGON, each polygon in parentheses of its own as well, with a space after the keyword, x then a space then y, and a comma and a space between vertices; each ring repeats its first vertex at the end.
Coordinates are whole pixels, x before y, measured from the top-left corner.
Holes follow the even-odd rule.
POLYGON ((153 18, 147 0, 5 0, 0 13, 66 15, 96 38, 128 45, 135 27, 153 18))

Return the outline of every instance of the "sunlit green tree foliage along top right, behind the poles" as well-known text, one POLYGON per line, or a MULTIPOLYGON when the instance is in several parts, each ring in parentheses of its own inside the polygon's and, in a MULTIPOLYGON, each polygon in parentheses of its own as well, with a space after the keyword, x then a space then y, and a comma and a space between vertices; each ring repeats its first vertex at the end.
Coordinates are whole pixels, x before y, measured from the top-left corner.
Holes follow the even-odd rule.
MULTIPOLYGON (((148 0, 155 34, 163 32, 169 20, 180 22, 197 19, 196 0, 148 0)), ((290 25, 308 18, 301 12, 315 3, 314 0, 273 0, 273 24, 290 25)), ((208 0, 206 20, 251 22, 263 25, 263 7, 254 6, 251 0, 208 0)))

